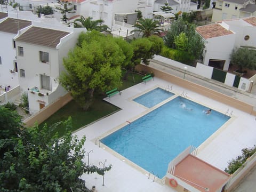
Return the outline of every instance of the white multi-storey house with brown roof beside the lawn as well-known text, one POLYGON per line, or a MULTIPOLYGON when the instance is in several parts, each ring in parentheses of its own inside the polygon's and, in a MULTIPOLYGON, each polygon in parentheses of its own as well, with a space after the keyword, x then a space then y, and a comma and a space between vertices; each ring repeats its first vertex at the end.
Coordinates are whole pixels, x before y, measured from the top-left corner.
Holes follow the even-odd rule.
POLYGON ((35 22, 15 38, 20 89, 28 91, 32 114, 66 94, 58 83, 62 60, 85 30, 45 27, 35 22))

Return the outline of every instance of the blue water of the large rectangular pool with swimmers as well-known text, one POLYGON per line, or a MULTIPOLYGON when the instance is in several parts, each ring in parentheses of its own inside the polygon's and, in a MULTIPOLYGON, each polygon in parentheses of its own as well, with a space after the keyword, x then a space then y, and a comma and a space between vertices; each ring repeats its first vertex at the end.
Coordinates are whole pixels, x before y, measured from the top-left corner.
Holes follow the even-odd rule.
POLYGON ((174 98, 101 140, 109 148, 130 159, 159 178, 167 166, 188 146, 198 147, 229 117, 182 97, 174 98))

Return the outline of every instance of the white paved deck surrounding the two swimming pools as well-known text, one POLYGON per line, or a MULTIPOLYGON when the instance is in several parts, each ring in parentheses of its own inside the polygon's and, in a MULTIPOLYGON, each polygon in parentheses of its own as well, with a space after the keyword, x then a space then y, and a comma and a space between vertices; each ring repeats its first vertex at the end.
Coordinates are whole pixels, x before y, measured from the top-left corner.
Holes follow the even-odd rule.
MULTIPOLYGON (((82 178, 85 180, 88 188, 96 186, 98 192, 175 191, 169 186, 162 185, 161 180, 158 178, 155 178, 153 182, 154 176, 152 174, 150 178, 148 178, 147 171, 141 171, 141 169, 138 169, 138 167, 132 165, 127 160, 123 161, 124 158, 113 155, 114 153, 106 150, 102 144, 99 147, 98 141, 97 145, 95 145, 95 139, 101 139, 107 132, 117 129, 117 127, 121 127, 121 125, 128 124, 126 121, 132 122, 135 118, 148 110, 146 107, 131 101, 132 98, 154 89, 157 86, 165 89, 167 85, 172 86, 172 92, 181 94, 184 91, 187 93, 188 99, 201 103, 214 110, 218 110, 223 114, 226 113, 227 109, 229 109, 229 113, 233 111, 231 119, 198 147, 197 157, 224 170, 230 159, 241 155, 241 149, 255 145, 256 121, 254 116, 155 77, 154 81, 151 80, 146 84, 140 83, 132 86, 122 91, 121 95, 116 94, 112 96, 110 100, 106 98, 106 101, 113 103, 113 105, 118 106, 122 110, 75 132, 78 138, 81 138, 83 135, 86 136, 84 145, 86 152, 93 150, 89 154, 89 164, 103 167, 102 163, 107 159, 105 166, 110 164, 113 166, 110 171, 105 173, 104 186, 102 186, 103 178, 101 175, 97 173, 84 174, 82 178)), ((200 135, 198 135, 198 137, 200 137, 200 135)), ((172 145, 172 143, 170 143, 170 145, 172 145)), ((161 159, 161 157, 157 158, 161 159)), ((86 163, 87 160, 86 156, 86 163)))

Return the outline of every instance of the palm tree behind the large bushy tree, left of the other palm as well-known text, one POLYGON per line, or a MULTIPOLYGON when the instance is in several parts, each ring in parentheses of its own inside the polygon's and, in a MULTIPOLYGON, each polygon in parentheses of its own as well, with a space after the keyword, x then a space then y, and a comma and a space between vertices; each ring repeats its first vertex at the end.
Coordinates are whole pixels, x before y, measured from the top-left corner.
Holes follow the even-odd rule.
POLYGON ((92 20, 91 17, 89 18, 84 18, 81 16, 80 19, 76 19, 74 21, 74 26, 75 27, 85 27, 87 30, 98 30, 98 31, 106 31, 109 32, 108 29, 110 29, 107 25, 101 25, 104 21, 102 19, 98 20, 92 20))

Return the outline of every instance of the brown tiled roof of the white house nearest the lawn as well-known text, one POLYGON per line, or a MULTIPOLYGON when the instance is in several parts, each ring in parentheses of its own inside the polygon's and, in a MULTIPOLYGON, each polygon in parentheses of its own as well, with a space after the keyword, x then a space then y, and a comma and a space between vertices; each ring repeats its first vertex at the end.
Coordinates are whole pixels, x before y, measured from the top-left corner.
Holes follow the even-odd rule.
POLYGON ((66 31, 31 27, 20 35, 16 41, 55 48, 60 43, 60 39, 68 34, 66 31))

